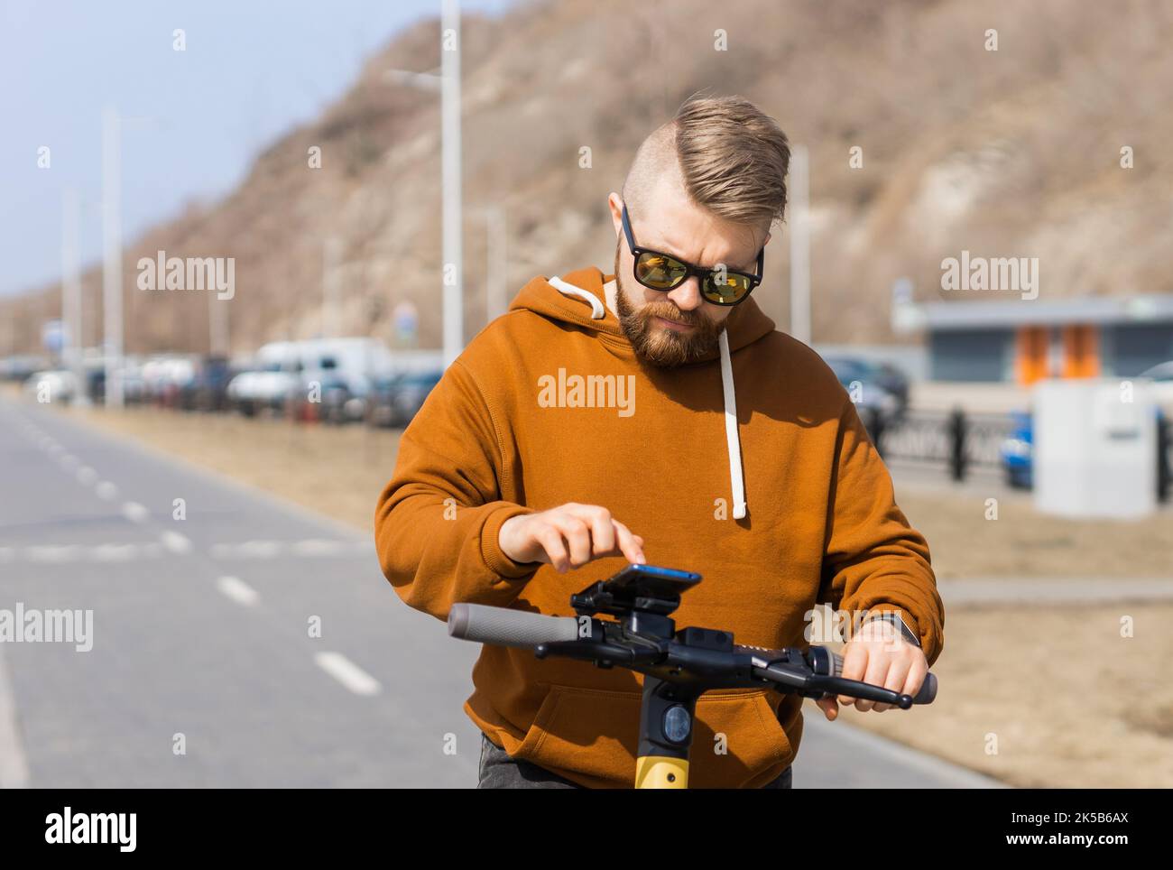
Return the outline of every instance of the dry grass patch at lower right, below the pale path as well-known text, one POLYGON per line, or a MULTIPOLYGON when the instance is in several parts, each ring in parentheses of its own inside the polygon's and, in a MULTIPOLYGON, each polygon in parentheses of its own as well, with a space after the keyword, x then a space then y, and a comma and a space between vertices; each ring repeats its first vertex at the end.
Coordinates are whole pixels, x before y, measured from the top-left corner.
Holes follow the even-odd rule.
POLYGON ((841 718, 1013 786, 1171 788, 1171 620, 1173 604, 952 610, 935 704, 841 718))

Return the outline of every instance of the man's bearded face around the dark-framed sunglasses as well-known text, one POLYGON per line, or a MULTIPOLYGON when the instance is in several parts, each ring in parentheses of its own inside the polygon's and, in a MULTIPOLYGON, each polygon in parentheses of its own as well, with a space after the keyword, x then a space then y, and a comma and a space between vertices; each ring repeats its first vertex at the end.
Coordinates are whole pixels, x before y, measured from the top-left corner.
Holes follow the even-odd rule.
MULTIPOLYGON (((636 355, 653 366, 672 367, 713 352, 732 306, 706 301, 696 276, 669 292, 639 284, 623 233, 623 200, 611 193, 609 204, 618 235, 615 308, 636 355)), ((679 184, 667 181, 657 186, 638 215, 632 216, 629 209, 628 218, 638 246, 698 266, 724 264, 735 272, 754 272, 758 251, 769 239, 759 227, 723 220, 693 205, 679 184)))

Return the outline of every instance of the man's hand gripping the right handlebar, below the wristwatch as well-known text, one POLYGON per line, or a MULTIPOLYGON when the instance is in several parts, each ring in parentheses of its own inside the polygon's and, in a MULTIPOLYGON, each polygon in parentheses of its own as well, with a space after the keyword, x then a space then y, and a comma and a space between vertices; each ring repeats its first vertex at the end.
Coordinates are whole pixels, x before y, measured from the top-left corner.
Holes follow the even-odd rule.
MULTIPOLYGON (((909 644, 891 623, 867 621, 843 647, 843 678, 883 686, 893 692, 916 695, 921 691, 929 661, 924 652, 909 644)), ((827 719, 839 716, 839 705, 854 704, 857 711, 883 713, 890 704, 866 701, 849 695, 822 698, 815 704, 827 719)), ((899 708, 897 708, 899 709, 899 708)))

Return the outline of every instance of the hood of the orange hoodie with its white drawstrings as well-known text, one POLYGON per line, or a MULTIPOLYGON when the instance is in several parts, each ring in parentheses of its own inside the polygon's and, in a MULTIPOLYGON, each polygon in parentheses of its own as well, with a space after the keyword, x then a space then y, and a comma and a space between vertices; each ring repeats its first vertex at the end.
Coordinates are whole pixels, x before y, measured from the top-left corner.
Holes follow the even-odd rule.
MULTIPOLYGON (((613 280, 596 266, 588 266, 564 277, 538 276, 522 287, 509 306, 510 311, 531 311, 544 318, 574 324, 596 333, 613 353, 635 358, 631 344, 619 328, 615 312, 606 307, 603 285, 613 280)), ((725 321, 718 347, 692 365, 705 365, 719 360, 721 392, 725 401, 725 447, 730 465, 730 490, 733 518, 741 519, 748 512, 745 499, 745 478, 741 463, 741 440, 738 435, 737 389, 733 383, 732 354, 774 331, 774 321, 762 313, 751 297, 738 305, 725 321)))

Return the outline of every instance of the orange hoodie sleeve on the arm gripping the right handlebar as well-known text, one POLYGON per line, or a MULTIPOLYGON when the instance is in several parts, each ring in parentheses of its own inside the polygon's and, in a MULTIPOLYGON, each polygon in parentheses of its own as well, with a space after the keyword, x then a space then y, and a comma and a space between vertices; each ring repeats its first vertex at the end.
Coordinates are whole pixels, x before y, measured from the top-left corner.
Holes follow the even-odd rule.
POLYGON ((944 646, 944 606, 929 546, 896 507, 891 475, 846 397, 832 471, 820 600, 847 611, 894 611, 931 666, 944 646))

